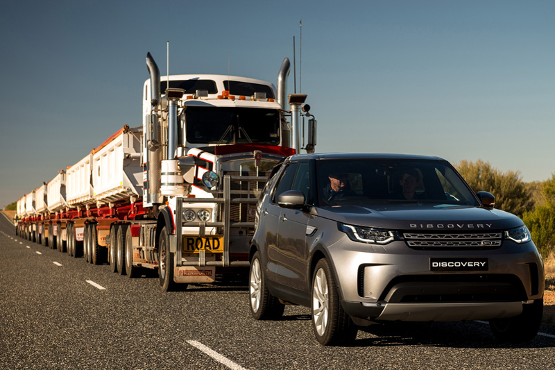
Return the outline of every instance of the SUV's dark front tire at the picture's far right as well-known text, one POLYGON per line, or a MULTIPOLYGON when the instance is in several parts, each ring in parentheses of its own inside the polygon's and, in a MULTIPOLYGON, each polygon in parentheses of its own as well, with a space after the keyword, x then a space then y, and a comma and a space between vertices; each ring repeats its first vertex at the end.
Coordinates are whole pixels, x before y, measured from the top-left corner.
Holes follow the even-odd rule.
POLYGON ((536 337, 543 317, 543 298, 522 305, 522 313, 509 319, 490 320, 490 328, 499 342, 522 343, 536 337))

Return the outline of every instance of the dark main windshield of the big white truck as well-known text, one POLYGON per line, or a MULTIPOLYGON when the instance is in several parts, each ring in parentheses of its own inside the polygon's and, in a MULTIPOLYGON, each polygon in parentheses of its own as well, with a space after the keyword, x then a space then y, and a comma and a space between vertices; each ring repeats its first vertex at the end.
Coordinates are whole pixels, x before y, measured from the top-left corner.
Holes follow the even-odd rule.
POLYGON ((194 144, 280 143, 280 112, 260 108, 189 107, 187 142, 194 144))

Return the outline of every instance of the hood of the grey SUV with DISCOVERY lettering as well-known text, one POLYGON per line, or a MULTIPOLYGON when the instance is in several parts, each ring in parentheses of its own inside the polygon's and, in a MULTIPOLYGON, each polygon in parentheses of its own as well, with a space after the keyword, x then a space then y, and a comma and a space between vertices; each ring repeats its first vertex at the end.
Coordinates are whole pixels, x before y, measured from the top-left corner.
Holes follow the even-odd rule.
POLYGON ((524 224, 502 210, 446 204, 334 205, 318 208, 318 216, 344 224, 396 230, 503 230, 524 224))

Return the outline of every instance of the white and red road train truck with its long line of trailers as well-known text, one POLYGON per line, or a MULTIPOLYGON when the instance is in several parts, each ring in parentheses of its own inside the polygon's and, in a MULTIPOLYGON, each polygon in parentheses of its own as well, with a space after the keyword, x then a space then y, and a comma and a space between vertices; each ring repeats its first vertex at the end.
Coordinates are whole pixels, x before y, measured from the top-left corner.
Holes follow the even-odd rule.
POLYGON ((123 125, 19 199, 16 233, 130 278, 157 270, 164 291, 246 275, 266 179, 289 155, 314 152, 307 95, 287 94, 288 58, 277 89, 239 76, 161 78, 150 53, 146 65, 142 126, 123 125))

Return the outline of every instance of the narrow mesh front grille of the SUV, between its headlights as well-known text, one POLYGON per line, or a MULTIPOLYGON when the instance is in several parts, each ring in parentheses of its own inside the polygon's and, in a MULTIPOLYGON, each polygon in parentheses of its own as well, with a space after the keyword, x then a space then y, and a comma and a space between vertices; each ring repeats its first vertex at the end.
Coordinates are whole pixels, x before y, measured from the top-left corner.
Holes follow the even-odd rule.
POLYGON ((502 233, 403 233, 407 245, 422 251, 498 249, 502 233))

